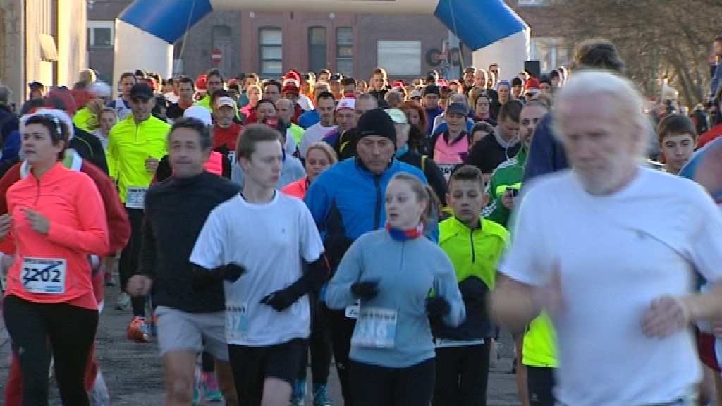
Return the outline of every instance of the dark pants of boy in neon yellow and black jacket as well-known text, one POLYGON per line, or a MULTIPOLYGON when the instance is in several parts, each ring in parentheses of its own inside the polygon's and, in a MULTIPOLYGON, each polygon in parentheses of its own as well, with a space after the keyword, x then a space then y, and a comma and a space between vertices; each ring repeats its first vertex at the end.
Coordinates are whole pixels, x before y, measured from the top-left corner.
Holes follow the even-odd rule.
POLYGON ((486 406, 491 340, 436 349, 434 406, 486 406))

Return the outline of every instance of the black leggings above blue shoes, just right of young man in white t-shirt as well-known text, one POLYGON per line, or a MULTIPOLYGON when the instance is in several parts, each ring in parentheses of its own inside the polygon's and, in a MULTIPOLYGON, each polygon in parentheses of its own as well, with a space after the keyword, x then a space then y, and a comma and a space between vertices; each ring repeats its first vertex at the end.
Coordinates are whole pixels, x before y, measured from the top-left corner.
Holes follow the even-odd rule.
MULTIPOLYGON (((308 346, 311 351, 311 375, 314 385, 325 385, 329 383, 329 371, 331 370, 331 332, 326 323, 326 315, 323 314, 321 302, 315 296, 309 297, 311 303, 311 336, 308 346)), ((301 370, 298 371, 298 378, 305 379, 306 367, 308 366, 308 351, 303 353, 301 370)))

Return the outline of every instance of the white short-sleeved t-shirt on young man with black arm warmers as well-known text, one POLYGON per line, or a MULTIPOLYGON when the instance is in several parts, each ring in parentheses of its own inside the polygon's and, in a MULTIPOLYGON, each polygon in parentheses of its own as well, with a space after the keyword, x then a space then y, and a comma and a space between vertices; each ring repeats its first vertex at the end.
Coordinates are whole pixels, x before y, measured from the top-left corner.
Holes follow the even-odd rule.
POLYGON ((224 282, 226 338, 233 345, 265 347, 308 338, 308 296, 284 311, 261 304, 261 299, 296 282, 303 276, 302 259, 314 262, 321 253, 323 243, 306 205, 276 191, 266 204, 249 204, 240 194, 219 204, 190 260, 205 269, 231 262, 248 269, 237 281, 224 282), (243 321, 239 309, 247 316, 243 321))

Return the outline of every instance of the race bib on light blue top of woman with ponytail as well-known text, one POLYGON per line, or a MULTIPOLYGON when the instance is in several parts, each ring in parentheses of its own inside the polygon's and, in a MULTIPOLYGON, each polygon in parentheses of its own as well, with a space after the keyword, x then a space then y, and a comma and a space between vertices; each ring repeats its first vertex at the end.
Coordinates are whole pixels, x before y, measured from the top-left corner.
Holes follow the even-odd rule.
POLYGON ((351 344, 359 347, 388 348, 396 341, 396 311, 361 308, 351 344))

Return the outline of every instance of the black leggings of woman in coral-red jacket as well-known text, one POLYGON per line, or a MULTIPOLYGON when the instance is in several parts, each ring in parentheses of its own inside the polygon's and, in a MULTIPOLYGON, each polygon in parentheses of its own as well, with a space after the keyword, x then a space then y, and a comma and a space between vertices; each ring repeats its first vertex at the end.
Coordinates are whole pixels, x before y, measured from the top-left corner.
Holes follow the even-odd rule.
POLYGON ((97 331, 97 311, 8 295, 3 316, 22 373, 22 405, 48 405, 51 354, 63 405, 90 405, 84 377, 97 331))

